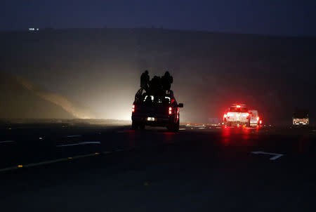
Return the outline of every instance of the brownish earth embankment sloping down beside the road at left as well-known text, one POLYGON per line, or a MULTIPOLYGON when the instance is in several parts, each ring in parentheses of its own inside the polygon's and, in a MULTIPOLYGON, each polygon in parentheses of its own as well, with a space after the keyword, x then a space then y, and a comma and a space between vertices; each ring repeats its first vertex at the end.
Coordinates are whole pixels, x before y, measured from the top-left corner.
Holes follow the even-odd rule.
POLYGON ((0 72, 0 119, 95 118, 62 95, 13 74, 0 72))

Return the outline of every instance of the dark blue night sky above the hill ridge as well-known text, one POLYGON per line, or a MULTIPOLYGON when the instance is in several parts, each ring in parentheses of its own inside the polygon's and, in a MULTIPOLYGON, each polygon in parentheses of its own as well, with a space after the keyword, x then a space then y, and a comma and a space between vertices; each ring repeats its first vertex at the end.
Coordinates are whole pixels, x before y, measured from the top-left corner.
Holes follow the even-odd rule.
POLYGON ((316 1, 0 1, 1 30, 164 27, 316 36, 316 1))

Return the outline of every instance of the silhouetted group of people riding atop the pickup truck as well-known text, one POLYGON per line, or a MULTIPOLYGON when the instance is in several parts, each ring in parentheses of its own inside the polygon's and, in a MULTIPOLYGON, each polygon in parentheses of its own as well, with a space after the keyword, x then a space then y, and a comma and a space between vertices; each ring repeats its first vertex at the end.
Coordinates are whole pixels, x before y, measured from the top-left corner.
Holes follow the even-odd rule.
POLYGON ((143 88, 146 93, 151 93, 152 95, 159 95, 159 93, 170 91, 172 83, 173 77, 169 72, 165 72, 162 77, 154 76, 152 80, 150 80, 147 70, 140 76, 140 88, 143 88))

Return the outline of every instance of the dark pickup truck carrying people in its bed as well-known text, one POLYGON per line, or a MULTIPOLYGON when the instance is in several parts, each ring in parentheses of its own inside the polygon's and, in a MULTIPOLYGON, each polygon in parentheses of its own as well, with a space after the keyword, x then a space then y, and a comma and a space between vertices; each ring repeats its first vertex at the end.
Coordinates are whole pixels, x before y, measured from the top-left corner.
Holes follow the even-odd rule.
POLYGON ((144 129, 145 126, 166 126, 169 131, 178 131, 180 124, 179 107, 173 96, 173 91, 166 91, 164 95, 142 94, 142 98, 135 100, 132 107, 132 128, 144 129))

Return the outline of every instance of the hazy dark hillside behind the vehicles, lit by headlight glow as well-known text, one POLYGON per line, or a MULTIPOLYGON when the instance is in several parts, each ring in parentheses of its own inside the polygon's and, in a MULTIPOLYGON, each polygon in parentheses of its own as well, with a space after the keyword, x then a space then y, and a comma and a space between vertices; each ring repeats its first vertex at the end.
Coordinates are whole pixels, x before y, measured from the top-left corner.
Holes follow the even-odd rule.
MULTIPOLYGON (((246 103, 263 121, 291 123, 295 107, 316 108, 316 38, 169 29, 54 29, 1 32, 6 72, 75 97, 103 119, 130 117, 145 69, 169 70, 185 103, 183 121, 207 122, 246 103)), ((310 119, 313 119, 310 114, 310 119)))

